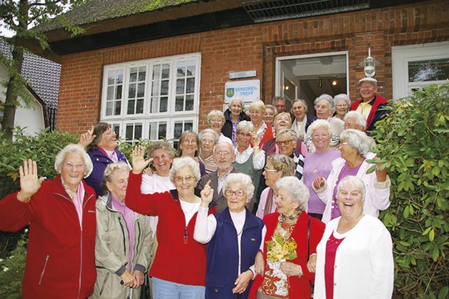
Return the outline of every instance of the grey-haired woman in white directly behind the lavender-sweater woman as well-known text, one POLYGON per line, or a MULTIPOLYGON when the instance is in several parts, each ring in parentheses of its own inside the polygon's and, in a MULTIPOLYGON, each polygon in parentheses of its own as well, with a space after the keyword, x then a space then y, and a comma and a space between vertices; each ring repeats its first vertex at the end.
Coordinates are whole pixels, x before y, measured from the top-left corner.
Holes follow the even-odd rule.
MULTIPOLYGON (((339 118, 332 117, 332 113, 334 113, 335 110, 334 99, 330 95, 323 94, 316 98, 314 105, 316 117, 319 120, 326 120, 331 126, 331 147, 339 147, 339 136, 344 130, 344 122, 339 118)), ((305 143, 309 152, 315 151, 314 145, 311 142, 310 130, 307 130, 305 143)))

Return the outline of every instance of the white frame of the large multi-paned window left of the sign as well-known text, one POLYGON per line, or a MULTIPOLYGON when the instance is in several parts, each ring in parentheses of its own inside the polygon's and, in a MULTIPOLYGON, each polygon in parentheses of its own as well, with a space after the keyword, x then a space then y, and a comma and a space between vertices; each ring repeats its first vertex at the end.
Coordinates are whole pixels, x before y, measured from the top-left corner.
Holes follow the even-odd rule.
MULTIPOLYGON (((198 127, 198 112, 200 107, 200 78, 201 78, 201 53, 191 53, 180 56, 167 56, 162 58, 147 59, 143 61, 131 61, 128 63, 116 63, 105 65, 103 67, 103 88, 101 96, 100 120, 108 122, 111 125, 120 125, 120 137, 125 137, 126 125, 129 123, 141 122, 143 125, 142 138, 149 139, 150 122, 167 122, 167 140, 173 140, 175 131, 175 122, 191 121, 193 130, 198 127), (195 64, 195 86, 193 93, 193 109, 187 111, 175 111, 176 100, 176 81, 177 81, 177 65, 182 62, 193 61, 195 64), (168 84, 167 112, 150 112, 150 100, 152 96, 152 75, 153 65, 170 64, 170 75, 168 84), (145 66, 145 95, 143 113, 128 115, 128 93, 129 93, 129 77, 131 68, 139 68, 145 66), (111 70, 123 70, 123 99, 120 115, 106 115, 106 97, 108 88, 108 72, 111 70)), ((135 140, 126 140, 134 143, 135 140)))

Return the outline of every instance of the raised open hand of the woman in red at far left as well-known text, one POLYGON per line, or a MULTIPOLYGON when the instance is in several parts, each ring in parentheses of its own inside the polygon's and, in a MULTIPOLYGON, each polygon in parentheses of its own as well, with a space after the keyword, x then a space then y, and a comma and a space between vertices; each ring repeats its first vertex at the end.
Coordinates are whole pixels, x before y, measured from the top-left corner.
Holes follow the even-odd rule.
POLYGON ((38 192, 41 188, 45 177, 38 178, 36 161, 28 159, 24 161, 24 166, 19 167, 20 175, 20 192, 17 194, 17 199, 22 202, 27 202, 31 196, 38 192))

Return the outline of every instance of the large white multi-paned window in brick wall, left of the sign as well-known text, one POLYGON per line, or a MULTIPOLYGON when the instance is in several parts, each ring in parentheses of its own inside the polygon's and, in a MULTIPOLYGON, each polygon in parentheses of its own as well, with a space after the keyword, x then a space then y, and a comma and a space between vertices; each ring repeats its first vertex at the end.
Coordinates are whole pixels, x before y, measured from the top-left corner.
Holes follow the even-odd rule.
POLYGON ((197 53, 106 65, 101 121, 131 143, 197 130, 200 60, 197 53))

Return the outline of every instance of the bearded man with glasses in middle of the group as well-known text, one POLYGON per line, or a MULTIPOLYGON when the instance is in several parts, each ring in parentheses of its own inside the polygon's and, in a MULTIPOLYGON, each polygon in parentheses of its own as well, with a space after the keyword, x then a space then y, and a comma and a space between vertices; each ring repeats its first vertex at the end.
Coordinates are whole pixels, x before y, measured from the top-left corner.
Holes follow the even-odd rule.
POLYGON ((232 167, 232 163, 235 161, 234 147, 229 142, 218 142, 214 147, 212 157, 218 169, 204 175, 198 182, 198 189, 204 189, 207 182, 210 181, 210 187, 214 189, 212 200, 217 204, 217 213, 220 213, 227 208, 226 197, 222 190, 224 179, 228 174, 235 173, 232 167))

